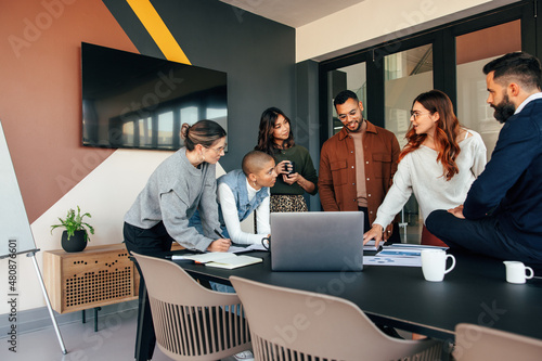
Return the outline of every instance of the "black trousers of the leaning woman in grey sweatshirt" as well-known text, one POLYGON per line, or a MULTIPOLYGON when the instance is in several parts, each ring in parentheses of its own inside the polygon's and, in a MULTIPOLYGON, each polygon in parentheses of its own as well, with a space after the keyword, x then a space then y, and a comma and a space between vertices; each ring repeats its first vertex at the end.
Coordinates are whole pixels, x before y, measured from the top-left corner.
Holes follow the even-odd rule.
MULTIPOLYGON (((169 236, 163 222, 144 230, 125 222, 124 236, 126 248, 140 255, 149 255, 155 252, 170 250, 173 238, 169 236)), ((136 263, 139 274, 139 312, 138 331, 136 336, 136 360, 151 360, 156 345, 151 305, 146 295, 143 273, 136 263), (138 345, 140 346, 138 349, 138 345)))

